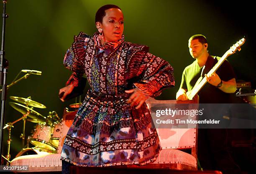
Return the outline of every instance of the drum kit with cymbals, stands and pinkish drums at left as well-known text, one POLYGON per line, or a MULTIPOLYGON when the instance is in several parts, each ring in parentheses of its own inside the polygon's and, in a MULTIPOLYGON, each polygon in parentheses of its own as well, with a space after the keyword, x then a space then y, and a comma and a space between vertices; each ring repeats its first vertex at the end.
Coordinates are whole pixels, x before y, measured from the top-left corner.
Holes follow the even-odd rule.
POLYGON ((3 158, 10 162, 10 143, 11 143, 11 129, 14 127, 13 125, 18 121, 23 121, 23 131, 20 135, 22 139, 22 147, 25 147, 25 127, 26 121, 30 121, 32 123, 36 123, 34 129, 32 130, 31 136, 27 137, 26 148, 22 149, 15 157, 25 155, 25 154, 41 154, 41 153, 56 153, 57 147, 59 145, 59 137, 61 134, 61 119, 55 111, 49 112, 48 116, 45 117, 40 113, 33 110, 33 108, 46 108, 41 103, 33 101, 31 97, 22 98, 16 96, 10 96, 10 99, 15 102, 9 102, 10 106, 12 106, 15 110, 19 111, 22 116, 13 121, 9 122, 5 125, 3 129, 8 130, 8 148, 7 155, 3 158), (29 144, 34 145, 34 147, 29 148, 29 144))

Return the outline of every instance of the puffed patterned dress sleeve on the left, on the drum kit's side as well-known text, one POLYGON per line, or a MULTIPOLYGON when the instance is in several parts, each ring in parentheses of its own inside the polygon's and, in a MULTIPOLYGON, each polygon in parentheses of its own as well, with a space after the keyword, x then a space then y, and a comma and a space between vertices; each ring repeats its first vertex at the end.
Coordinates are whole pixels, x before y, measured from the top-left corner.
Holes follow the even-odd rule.
POLYGON ((78 86, 79 79, 82 78, 85 68, 84 68, 84 56, 87 47, 88 40, 90 36, 80 32, 79 35, 74 36, 74 43, 67 50, 64 56, 64 66, 73 71, 66 85, 72 83, 74 86, 78 86))

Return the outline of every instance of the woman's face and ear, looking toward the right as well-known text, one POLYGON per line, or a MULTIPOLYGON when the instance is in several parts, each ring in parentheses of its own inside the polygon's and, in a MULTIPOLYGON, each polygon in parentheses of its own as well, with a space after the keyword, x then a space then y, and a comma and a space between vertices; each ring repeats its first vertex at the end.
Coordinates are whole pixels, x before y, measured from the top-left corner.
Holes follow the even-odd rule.
POLYGON ((118 8, 110 8, 105 13, 102 23, 96 23, 96 27, 100 25, 103 29, 105 42, 117 41, 123 34, 123 13, 118 8))

